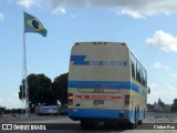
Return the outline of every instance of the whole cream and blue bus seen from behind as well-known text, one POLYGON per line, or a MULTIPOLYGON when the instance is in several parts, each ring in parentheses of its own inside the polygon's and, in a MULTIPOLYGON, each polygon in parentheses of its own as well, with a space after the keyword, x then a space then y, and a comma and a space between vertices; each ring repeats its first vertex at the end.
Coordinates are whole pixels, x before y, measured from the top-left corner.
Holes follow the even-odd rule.
POLYGON ((67 115, 81 127, 146 117, 147 73, 126 43, 77 42, 71 51, 67 115))

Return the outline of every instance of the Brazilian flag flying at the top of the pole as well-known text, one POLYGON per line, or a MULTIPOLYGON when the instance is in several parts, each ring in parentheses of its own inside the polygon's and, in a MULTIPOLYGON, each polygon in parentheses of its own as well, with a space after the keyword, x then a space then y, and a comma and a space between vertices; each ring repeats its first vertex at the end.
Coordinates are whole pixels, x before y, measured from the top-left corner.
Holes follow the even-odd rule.
POLYGON ((46 29, 35 17, 24 12, 24 33, 27 32, 40 33, 43 37, 46 37, 48 33, 46 29))

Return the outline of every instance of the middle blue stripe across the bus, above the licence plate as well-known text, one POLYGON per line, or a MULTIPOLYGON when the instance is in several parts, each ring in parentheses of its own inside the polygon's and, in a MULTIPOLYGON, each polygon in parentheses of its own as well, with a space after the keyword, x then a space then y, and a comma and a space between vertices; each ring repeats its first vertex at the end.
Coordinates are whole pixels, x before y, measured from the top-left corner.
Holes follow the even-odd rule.
POLYGON ((104 82, 104 81, 69 81, 67 88, 79 88, 79 89, 93 89, 93 88, 104 88, 104 89, 127 89, 139 92, 139 88, 133 82, 104 82))

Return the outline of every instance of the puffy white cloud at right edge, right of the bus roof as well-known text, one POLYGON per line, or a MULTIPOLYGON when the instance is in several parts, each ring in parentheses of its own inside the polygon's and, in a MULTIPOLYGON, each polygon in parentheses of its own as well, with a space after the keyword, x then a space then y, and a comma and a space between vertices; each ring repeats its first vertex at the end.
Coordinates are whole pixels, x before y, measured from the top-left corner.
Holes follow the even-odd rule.
POLYGON ((156 31, 154 37, 146 40, 146 43, 166 52, 177 52, 177 37, 163 30, 156 31))

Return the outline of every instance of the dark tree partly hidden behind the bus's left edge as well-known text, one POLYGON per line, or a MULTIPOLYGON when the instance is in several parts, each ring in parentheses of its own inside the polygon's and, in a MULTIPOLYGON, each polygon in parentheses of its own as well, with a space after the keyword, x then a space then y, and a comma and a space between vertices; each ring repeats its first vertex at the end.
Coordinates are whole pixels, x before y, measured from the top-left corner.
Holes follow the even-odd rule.
POLYGON ((60 100, 62 104, 67 103, 67 75, 69 73, 56 76, 52 84, 55 101, 60 100))

